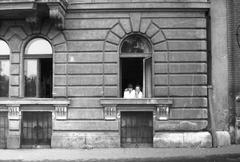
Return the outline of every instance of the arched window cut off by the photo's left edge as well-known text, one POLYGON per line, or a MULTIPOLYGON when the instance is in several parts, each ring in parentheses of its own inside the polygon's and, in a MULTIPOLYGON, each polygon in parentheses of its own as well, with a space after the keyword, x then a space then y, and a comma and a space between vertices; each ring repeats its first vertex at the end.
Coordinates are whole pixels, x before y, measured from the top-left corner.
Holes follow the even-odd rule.
POLYGON ((9 56, 8 44, 0 39, 0 97, 9 96, 9 56))

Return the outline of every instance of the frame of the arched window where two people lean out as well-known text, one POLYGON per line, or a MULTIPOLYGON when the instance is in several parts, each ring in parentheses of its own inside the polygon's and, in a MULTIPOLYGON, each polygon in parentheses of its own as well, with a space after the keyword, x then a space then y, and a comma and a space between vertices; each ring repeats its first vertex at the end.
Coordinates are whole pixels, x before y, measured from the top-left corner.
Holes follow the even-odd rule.
POLYGON ((154 80, 154 75, 153 75, 153 51, 152 51, 152 44, 146 38, 145 36, 139 35, 139 34, 132 34, 127 37, 125 37, 122 42, 120 43, 120 48, 119 48, 119 97, 122 98, 122 61, 121 59, 127 59, 127 58, 142 58, 143 59, 143 87, 142 87, 142 93, 143 93, 143 98, 153 98, 154 97, 154 91, 153 91, 153 80, 154 80), (149 46, 149 51, 150 53, 121 53, 122 51, 122 46, 125 40, 131 38, 131 37, 141 37, 145 39, 145 41, 148 43, 149 46), (151 64, 148 62, 144 62, 146 59, 151 59, 151 64), (148 69, 148 70, 147 70, 148 69), (149 70, 150 69, 150 70, 149 70), (147 72, 148 71, 148 72, 147 72), (147 73, 146 73, 147 72, 147 73), (147 80, 146 76, 151 75, 151 78, 147 80))

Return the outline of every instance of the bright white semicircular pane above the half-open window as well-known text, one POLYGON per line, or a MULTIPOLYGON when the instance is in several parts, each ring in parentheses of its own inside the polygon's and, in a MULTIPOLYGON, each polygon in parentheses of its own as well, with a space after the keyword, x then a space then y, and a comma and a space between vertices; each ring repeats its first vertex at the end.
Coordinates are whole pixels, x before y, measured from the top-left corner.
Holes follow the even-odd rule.
POLYGON ((35 38, 27 44, 25 54, 52 54, 52 47, 45 39, 35 38))

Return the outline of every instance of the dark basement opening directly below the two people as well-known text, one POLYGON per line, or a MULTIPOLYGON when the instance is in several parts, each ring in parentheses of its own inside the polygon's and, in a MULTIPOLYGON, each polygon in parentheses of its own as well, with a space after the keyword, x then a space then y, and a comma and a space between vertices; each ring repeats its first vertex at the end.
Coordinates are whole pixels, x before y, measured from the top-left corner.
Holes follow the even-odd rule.
POLYGON ((121 146, 152 147, 152 112, 121 113, 121 146))

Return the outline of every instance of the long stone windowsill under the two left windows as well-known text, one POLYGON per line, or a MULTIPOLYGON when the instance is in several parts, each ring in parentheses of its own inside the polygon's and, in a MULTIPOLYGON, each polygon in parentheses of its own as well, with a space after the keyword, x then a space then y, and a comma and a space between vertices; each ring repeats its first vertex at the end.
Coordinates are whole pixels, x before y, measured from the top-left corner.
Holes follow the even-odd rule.
POLYGON ((70 99, 66 98, 0 98, 0 105, 68 105, 70 99))

